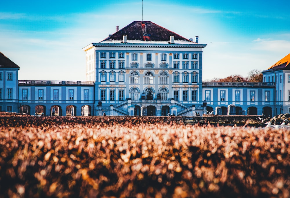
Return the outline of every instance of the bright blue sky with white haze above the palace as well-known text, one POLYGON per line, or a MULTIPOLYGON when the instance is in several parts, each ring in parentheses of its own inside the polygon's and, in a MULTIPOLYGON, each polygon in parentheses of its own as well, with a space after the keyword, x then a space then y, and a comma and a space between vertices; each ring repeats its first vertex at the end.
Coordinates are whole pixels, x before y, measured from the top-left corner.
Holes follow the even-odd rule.
MULTIPOLYGON (((199 36, 203 79, 265 70, 290 53, 290 1, 143 1, 143 20, 199 36)), ((3 1, 0 51, 21 80, 85 80, 82 48, 142 20, 138 1, 3 1)))

